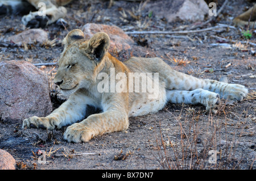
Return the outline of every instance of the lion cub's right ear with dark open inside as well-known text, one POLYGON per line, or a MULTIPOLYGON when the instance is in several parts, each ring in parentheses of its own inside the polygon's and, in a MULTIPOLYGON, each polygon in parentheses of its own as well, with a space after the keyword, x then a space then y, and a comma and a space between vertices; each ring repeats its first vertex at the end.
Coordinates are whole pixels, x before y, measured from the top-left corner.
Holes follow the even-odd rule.
POLYGON ((104 32, 98 32, 88 41, 86 52, 95 57, 96 61, 101 61, 109 49, 109 44, 109 36, 104 32))

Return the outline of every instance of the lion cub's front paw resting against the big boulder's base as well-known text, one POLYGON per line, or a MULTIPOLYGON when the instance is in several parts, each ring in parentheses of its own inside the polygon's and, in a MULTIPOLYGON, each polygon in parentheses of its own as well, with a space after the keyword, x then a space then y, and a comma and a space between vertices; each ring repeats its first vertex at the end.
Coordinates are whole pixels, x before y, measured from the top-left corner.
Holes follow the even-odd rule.
POLYGON ((22 128, 42 128, 53 130, 58 126, 58 120, 55 117, 37 117, 33 116, 24 119, 22 128))

